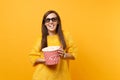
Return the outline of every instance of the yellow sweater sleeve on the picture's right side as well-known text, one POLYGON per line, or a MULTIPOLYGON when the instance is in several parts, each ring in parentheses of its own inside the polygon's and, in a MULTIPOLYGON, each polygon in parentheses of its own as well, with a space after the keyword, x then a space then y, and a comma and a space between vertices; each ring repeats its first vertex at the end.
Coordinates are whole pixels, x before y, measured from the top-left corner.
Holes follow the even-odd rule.
POLYGON ((67 44, 66 52, 72 54, 76 58, 77 46, 69 32, 66 33, 66 44, 67 44))

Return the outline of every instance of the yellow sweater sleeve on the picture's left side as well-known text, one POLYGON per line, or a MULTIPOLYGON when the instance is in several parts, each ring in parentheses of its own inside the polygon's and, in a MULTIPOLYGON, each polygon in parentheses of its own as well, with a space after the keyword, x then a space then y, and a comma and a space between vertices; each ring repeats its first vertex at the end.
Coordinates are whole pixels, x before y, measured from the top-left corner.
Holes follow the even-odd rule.
POLYGON ((29 53, 29 58, 32 64, 34 64, 38 58, 43 58, 42 52, 40 51, 40 44, 41 44, 41 39, 38 39, 36 41, 35 46, 29 53))

